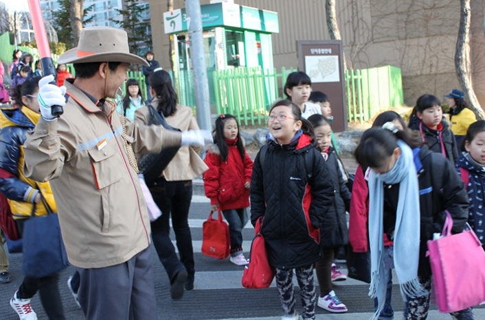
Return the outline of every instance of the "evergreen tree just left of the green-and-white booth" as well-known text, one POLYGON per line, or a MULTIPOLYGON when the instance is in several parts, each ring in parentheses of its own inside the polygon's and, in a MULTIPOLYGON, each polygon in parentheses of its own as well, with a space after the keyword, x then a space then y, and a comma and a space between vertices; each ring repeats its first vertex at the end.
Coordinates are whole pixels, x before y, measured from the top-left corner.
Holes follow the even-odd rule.
POLYGON ((122 20, 110 19, 120 25, 128 34, 130 52, 141 55, 140 49, 152 46, 151 36, 147 37, 146 29, 150 27, 150 21, 144 21, 142 15, 145 8, 139 5, 138 0, 124 0, 124 9, 115 9, 123 16, 122 20))

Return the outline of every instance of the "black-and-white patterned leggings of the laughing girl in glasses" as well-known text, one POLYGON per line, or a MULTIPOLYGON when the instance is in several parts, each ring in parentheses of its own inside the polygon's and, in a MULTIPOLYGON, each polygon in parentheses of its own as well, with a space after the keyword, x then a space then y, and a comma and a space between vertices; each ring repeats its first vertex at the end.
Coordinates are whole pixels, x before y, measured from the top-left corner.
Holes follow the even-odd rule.
MULTIPOLYGON (((315 280, 313 279, 313 265, 296 268, 296 278, 300 286, 304 320, 315 319, 315 280)), ((281 305, 285 315, 295 314, 295 289, 293 288, 293 269, 276 268, 276 286, 280 293, 281 305)))

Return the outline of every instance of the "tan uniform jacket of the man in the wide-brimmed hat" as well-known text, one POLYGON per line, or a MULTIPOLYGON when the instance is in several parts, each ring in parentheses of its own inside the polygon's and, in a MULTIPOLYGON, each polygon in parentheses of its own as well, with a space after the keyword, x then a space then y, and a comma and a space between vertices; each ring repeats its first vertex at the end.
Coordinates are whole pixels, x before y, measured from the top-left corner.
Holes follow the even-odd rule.
MULTIPOLYGON (((85 269, 131 259, 150 244, 150 221, 122 139, 121 118, 65 82, 64 114, 39 120, 25 141, 25 175, 51 180, 69 262, 85 269)), ((181 135, 126 119, 137 153, 180 145, 181 135)))

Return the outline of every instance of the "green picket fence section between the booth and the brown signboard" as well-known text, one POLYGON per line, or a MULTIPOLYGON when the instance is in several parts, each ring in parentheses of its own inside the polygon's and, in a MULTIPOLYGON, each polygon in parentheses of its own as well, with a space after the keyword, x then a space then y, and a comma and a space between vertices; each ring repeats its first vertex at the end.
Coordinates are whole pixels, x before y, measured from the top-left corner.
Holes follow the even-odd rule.
POLYGON ((278 88, 284 84, 286 75, 285 68, 281 73, 276 69, 263 71, 260 67, 214 71, 217 114, 232 114, 242 125, 266 123, 269 106, 283 97, 278 88))

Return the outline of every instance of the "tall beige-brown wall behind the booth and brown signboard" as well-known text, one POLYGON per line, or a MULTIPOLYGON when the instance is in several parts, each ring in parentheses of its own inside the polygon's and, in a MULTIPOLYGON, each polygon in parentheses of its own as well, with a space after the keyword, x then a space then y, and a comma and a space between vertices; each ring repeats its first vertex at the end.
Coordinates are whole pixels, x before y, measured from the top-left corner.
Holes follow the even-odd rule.
MULTIPOLYGON (((280 34, 273 34, 274 64, 297 66, 297 40, 330 39, 324 0, 236 0, 278 12, 280 34)), ((443 99, 460 88, 455 74, 455 45, 460 22, 458 0, 337 0, 337 22, 347 66, 353 69, 390 64, 403 73, 405 103, 413 106, 425 93, 443 99)), ((202 4, 209 0, 201 0, 202 4)), ((174 0, 174 8, 184 1, 174 0)), ((485 106, 485 4, 472 0, 471 79, 485 106)), ((150 0, 155 57, 164 68, 168 60, 168 36, 163 34, 166 1, 150 0)))

